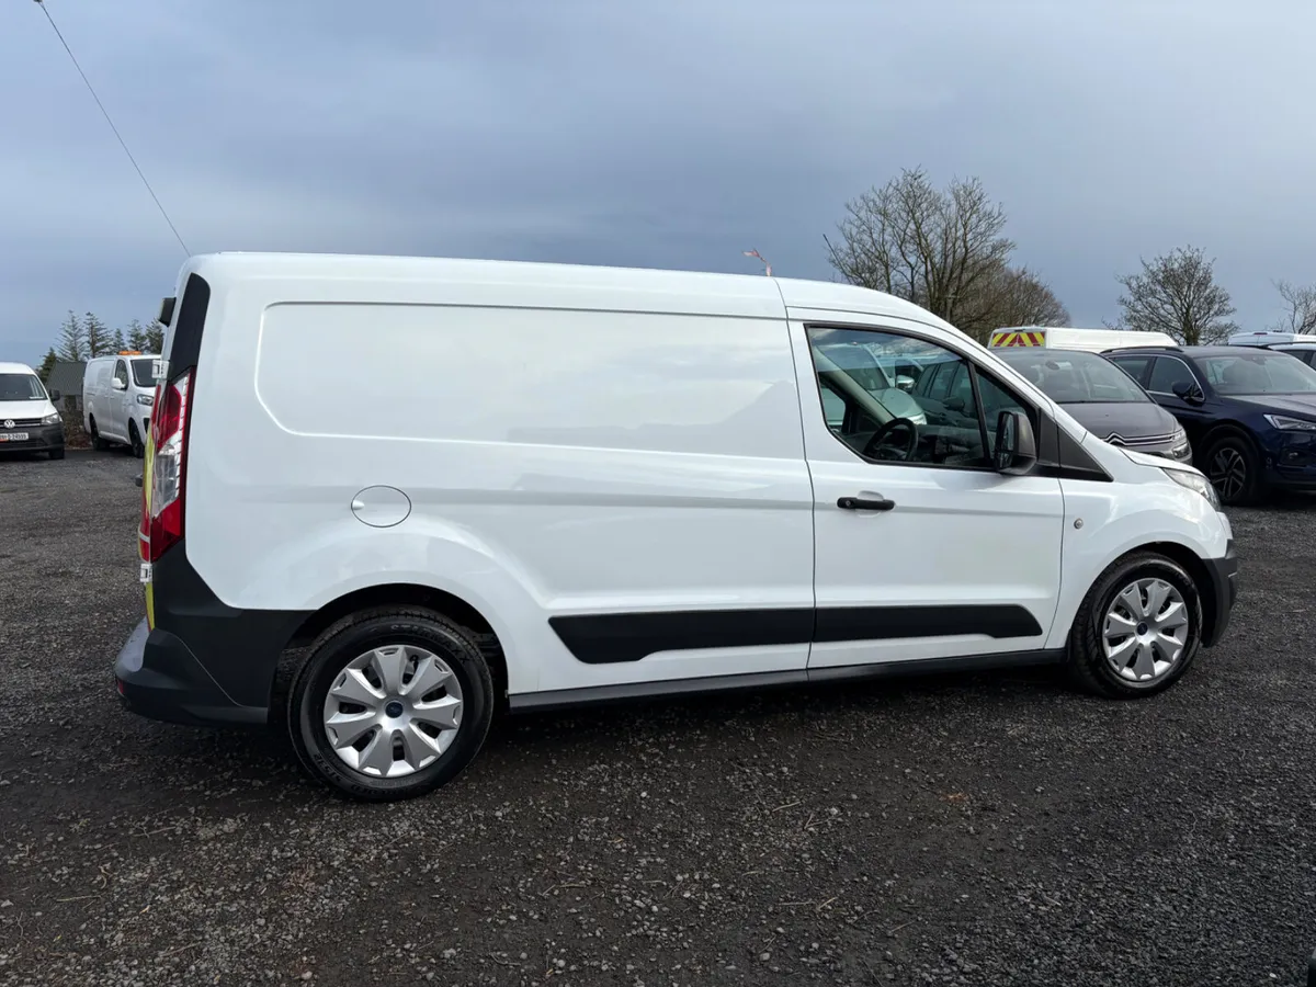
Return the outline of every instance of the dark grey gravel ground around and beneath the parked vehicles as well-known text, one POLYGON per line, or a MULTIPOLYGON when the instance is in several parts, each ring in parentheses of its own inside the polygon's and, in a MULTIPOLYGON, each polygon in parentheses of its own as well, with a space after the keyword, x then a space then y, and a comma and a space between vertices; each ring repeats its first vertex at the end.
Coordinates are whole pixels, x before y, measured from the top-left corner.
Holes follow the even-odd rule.
POLYGON ((984 674, 504 722, 343 803, 118 708, 139 465, 0 461, 0 984, 1298 984, 1316 501, 1170 694, 984 674))

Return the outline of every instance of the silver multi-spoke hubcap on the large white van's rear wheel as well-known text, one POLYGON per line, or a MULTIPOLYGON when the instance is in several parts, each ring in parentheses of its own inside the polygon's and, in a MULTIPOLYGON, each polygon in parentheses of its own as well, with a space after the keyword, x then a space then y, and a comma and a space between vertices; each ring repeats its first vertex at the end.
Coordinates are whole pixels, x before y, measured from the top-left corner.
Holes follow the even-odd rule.
POLYGON ((400 778, 428 767, 462 725, 462 687, 442 658, 412 645, 375 647, 338 672, 325 736, 349 767, 400 778))

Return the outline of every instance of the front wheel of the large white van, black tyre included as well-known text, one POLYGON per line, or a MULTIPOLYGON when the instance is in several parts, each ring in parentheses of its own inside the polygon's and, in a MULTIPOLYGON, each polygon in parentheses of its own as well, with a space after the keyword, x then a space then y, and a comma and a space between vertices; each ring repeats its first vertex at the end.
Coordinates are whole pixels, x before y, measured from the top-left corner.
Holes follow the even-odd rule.
POLYGON ((1155 553, 1125 555, 1100 575, 1079 604, 1074 628, 1070 630, 1070 669, 1074 679, 1088 692, 1111 699, 1141 699, 1162 692, 1178 682, 1198 657, 1202 649, 1202 597, 1198 587, 1178 562, 1155 553), (1178 594, 1182 609, 1171 611, 1174 597, 1169 595, 1158 615, 1142 617, 1136 609, 1130 611, 1130 601, 1142 607, 1148 603, 1155 605, 1157 600, 1150 597, 1145 588, 1157 583, 1178 594), (1125 596, 1130 590, 1137 592, 1125 596), (1115 637, 1121 630, 1120 619, 1130 612, 1137 621, 1130 625, 1130 633, 1115 637), (1182 615, 1183 622, 1179 628, 1167 626, 1174 622, 1174 613, 1182 615), (1182 637, 1182 647, 1177 657, 1173 654, 1173 646, 1166 644, 1170 638, 1162 638, 1155 633, 1157 622, 1166 626, 1170 638, 1182 637), (1109 644, 1116 649, 1116 654, 1111 658, 1107 657, 1107 629, 1112 632, 1109 644), (1144 632, 1142 640, 1158 641, 1157 647, 1146 651, 1150 661, 1142 654, 1144 649, 1138 644, 1134 644, 1130 651, 1117 650, 1124 641, 1137 640, 1140 630, 1144 632), (1166 667, 1155 669, 1157 658, 1165 662, 1166 667), (1126 665, 1123 674, 1116 670, 1116 665, 1121 663, 1126 665), (1154 674, 1140 678, 1148 665, 1153 667, 1154 674))

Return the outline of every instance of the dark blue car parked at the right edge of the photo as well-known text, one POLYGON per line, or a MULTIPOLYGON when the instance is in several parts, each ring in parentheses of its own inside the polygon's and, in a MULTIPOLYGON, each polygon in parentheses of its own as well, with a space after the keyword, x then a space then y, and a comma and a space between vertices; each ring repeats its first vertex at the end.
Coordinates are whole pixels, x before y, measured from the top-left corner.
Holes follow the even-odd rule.
POLYGON ((1316 490, 1316 370, 1248 346, 1155 346, 1104 354, 1179 420, 1225 504, 1271 488, 1316 490))

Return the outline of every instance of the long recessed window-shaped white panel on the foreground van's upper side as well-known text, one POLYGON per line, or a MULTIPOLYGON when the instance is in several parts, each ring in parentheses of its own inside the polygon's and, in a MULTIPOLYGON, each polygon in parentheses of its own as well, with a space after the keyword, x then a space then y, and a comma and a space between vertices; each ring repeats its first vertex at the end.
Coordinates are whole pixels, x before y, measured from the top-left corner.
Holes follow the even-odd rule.
POLYGON ((283 303, 257 391, 309 436, 803 455, 778 320, 283 303))

